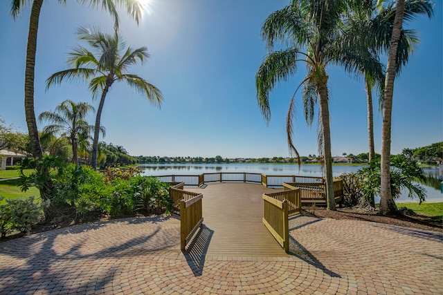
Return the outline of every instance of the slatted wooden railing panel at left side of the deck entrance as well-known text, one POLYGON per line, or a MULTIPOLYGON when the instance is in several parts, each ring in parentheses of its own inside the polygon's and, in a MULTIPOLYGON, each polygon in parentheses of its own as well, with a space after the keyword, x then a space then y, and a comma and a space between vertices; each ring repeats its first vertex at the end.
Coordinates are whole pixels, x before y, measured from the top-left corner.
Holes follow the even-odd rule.
POLYGON ((192 196, 189 200, 180 201, 180 247, 182 250, 190 242, 192 236, 197 232, 203 223, 203 212, 201 209, 201 193, 187 192, 192 196))

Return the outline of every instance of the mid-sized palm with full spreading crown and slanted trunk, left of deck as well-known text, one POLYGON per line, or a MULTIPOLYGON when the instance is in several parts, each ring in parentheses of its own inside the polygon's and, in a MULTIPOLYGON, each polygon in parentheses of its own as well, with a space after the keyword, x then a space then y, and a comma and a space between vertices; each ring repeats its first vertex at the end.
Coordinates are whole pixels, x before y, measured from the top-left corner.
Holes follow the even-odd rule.
POLYGON ((126 48, 115 31, 114 35, 105 34, 98 28, 82 27, 78 30, 80 41, 85 41, 91 51, 83 46, 78 46, 69 53, 68 63, 72 66, 68 70, 54 73, 46 80, 46 89, 53 84, 60 84, 64 79, 80 79, 89 82, 89 91, 93 98, 101 95, 98 105, 96 126, 94 130, 91 166, 97 168, 98 133, 100 131, 100 117, 109 88, 114 82, 125 81, 138 93, 146 95, 147 99, 158 106, 161 105, 163 96, 159 88, 148 83, 138 75, 126 73, 129 66, 142 64, 149 58, 146 47, 133 50, 126 48))

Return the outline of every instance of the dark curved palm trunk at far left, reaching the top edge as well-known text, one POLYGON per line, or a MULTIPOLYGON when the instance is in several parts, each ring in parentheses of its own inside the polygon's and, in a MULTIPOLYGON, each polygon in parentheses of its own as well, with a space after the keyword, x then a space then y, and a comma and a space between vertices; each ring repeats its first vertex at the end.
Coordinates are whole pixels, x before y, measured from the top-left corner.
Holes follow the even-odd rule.
POLYGON ((40 144, 37 122, 34 111, 34 78, 35 78, 35 52, 37 50, 37 31, 39 27, 40 10, 43 0, 33 1, 30 12, 28 47, 26 48, 26 70, 25 70, 25 115, 28 124, 30 146, 35 158, 42 159, 43 151, 40 144))

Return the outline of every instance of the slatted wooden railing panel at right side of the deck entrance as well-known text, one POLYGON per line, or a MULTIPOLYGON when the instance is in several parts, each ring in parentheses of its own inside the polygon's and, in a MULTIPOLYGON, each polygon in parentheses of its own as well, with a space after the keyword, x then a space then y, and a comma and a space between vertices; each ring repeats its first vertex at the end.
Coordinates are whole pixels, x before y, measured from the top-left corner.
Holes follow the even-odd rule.
POLYGON ((284 251, 289 252, 289 216, 287 200, 280 201, 263 194, 263 224, 284 251))

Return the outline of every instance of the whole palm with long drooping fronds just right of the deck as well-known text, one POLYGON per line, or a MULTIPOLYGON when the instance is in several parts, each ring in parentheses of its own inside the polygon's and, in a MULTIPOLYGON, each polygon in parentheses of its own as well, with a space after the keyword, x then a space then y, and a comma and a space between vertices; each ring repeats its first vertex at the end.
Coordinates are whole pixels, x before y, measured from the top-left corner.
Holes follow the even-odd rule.
MULTIPOLYGON (((307 75, 300 83, 305 120, 311 125, 314 120, 314 107, 319 108, 319 151, 323 154, 326 174, 327 209, 335 210, 334 184, 332 179, 331 136, 329 128, 329 94, 327 66, 342 64, 345 70, 356 73, 366 64, 368 71, 380 70, 371 66, 370 57, 363 58, 359 48, 343 43, 343 14, 346 1, 293 0, 292 3, 273 12, 264 21, 262 39, 266 41, 269 54, 255 76, 257 102, 262 115, 269 122, 269 93, 275 84, 286 81, 294 73, 300 62, 307 66, 307 75), (287 49, 274 51, 274 43, 279 42, 287 49), (299 56, 302 56, 300 58, 299 56)), ((296 92, 298 91, 298 88, 296 92)), ((289 149, 298 156, 292 140, 292 119, 295 115, 294 96, 289 104, 287 115, 287 135, 289 149)))

